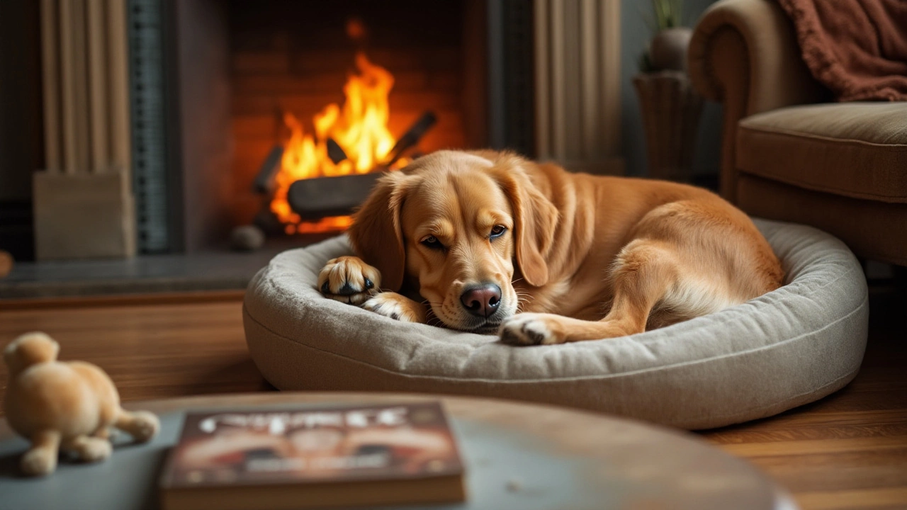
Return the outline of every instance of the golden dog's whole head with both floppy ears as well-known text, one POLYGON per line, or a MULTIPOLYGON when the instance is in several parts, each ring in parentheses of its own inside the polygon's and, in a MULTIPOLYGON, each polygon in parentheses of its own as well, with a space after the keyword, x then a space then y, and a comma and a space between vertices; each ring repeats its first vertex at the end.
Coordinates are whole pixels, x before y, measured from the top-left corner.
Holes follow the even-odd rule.
POLYGON ((514 278, 548 281, 558 211, 527 164, 507 153, 441 151, 388 173, 349 230, 356 253, 381 271, 384 289, 418 289, 445 326, 496 330, 518 308, 514 278))

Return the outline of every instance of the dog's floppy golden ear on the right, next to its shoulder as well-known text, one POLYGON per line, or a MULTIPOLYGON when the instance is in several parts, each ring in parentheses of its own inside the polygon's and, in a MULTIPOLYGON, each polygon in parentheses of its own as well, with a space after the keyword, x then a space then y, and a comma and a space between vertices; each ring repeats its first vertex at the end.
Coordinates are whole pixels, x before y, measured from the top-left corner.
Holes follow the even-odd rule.
POLYGON ((541 287, 548 283, 548 263, 545 261, 560 212, 532 183, 522 169, 526 162, 519 158, 502 157, 493 168, 497 181, 513 206, 513 235, 516 261, 526 283, 541 287))

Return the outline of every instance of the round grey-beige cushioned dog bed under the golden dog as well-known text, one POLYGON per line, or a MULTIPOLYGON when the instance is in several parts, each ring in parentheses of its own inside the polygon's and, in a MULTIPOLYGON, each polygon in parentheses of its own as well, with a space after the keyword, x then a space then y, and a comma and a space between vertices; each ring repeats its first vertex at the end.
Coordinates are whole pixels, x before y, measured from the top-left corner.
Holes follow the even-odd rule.
POLYGON ((515 348, 323 298, 345 237, 281 253, 249 283, 249 352, 280 389, 532 400, 685 428, 767 417, 844 387, 866 343, 860 264, 820 230, 756 221, 787 284, 742 305, 624 338, 515 348))

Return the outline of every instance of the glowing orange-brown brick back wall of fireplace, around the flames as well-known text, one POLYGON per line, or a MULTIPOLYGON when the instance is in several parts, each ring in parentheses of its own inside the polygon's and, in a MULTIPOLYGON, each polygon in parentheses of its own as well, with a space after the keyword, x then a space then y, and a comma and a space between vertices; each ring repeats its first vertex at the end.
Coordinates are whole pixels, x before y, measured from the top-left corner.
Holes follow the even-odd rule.
MULTIPOLYGON (((466 83, 483 82, 481 68, 468 69, 469 54, 483 54, 481 32, 467 20, 465 2, 250 2, 227 3, 229 36, 230 168, 233 221, 254 220, 261 196, 253 181, 276 143, 286 142, 284 115, 307 133, 328 104, 345 102, 355 55, 394 77, 387 128, 399 138, 425 112, 437 118, 415 152, 480 147, 483 105, 471 103, 466 83), (479 74, 479 75, 476 75, 479 74), (471 119, 473 122, 466 122, 471 119)), ((474 66, 473 67, 477 67, 474 66)))

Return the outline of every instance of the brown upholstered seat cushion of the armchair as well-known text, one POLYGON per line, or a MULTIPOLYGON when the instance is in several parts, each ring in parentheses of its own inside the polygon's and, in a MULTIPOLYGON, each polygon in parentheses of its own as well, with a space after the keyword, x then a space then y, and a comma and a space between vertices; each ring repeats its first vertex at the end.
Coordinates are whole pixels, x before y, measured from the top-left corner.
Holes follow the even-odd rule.
POLYGON ((736 168, 852 198, 907 203, 907 103, 826 103, 740 121, 736 168))

